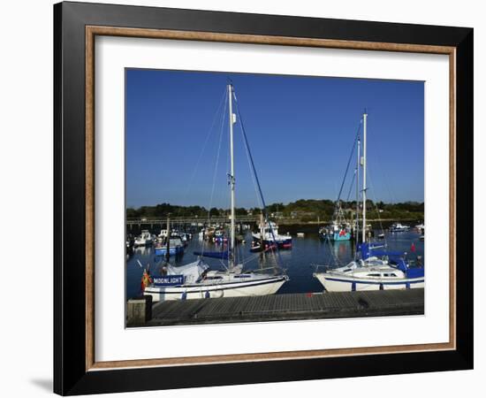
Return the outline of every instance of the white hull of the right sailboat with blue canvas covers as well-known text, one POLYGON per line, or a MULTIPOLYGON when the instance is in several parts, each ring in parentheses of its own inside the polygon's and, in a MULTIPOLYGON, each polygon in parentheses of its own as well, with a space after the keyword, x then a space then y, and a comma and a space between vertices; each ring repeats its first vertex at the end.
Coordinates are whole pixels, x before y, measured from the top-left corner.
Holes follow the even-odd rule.
POLYGON ((425 286, 424 278, 369 279, 333 275, 330 272, 314 274, 328 292, 352 292, 363 290, 413 289, 425 286))

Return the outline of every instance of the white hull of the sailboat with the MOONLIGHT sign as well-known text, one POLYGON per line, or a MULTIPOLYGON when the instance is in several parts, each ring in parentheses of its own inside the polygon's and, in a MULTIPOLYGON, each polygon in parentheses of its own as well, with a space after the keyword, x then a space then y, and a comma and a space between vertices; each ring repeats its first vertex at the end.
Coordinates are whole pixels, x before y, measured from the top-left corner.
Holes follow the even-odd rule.
POLYGON ((241 297, 247 295, 275 295, 284 285, 285 276, 220 284, 195 283, 178 287, 147 287, 144 295, 154 302, 167 300, 194 300, 201 298, 241 297))

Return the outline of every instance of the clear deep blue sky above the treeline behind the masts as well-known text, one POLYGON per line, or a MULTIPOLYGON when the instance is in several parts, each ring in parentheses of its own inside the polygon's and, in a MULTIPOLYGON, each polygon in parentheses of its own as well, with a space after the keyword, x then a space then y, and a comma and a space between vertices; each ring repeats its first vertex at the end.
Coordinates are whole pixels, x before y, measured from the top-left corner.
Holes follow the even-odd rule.
MULTIPOLYGON (((421 81, 127 69, 128 207, 228 207, 228 79, 267 203, 336 199, 365 108, 369 197, 423 201, 421 81)), ((239 120, 234 135, 237 206, 254 207, 239 120)))

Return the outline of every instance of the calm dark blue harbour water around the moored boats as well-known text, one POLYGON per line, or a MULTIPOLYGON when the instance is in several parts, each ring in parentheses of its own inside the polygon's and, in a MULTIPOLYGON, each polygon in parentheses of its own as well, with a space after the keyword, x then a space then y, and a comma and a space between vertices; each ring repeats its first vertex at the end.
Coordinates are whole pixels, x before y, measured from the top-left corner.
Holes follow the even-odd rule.
MULTIPOLYGON (((317 234, 317 226, 281 226, 279 233, 291 233, 292 235, 292 249, 280 250, 280 257, 283 267, 286 269, 290 280, 278 291, 279 294, 285 293, 309 293, 322 292, 323 286, 315 279, 312 274, 315 272, 315 265, 329 265, 337 267, 345 265, 353 260, 354 249, 353 241, 340 241, 331 243, 323 241, 317 234), (304 238, 297 238, 296 233, 305 233, 304 238)), ((381 233, 381 231, 376 231, 381 233)), ((405 233, 388 233, 385 232, 385 241, 390 250, 406 251, 408 258, 414 259, 417 255, 422 256, 422 263, 424 256, 423 241, 419 241, 420 234, 411 230, 405 233), (411 252, 412 243, 415 245, 415 253, 411 252)), ((273 267, 276 264, 277 258, 272 253, 251 253, 249 251, 251 246, 251 233, 246 235, 246 244, 240 244, 238 247, 239 263, 245 265, 245 269, 254 270, 257 268, 273 267)), ((188 264, 196 260, 194 250, 201 250, 202 241, 198 240, 197 234, 194 235, 192 241, 186 247, 183 256, 177 259, 171 257, 171 263, 176 265, 188 264)), ((220 250, 221 246, 206 243, 204 248, 209 251, 220 250)), ((161 264, 161 259, 155 256, 154 249, 138 248, 135 249, 132 256, 126 257, 126 296, 133 297, 140 295, 140 279, 143 269, 138 264, 147 266, 150 264, 150 271, 154 275, 158 275, 157 268, 161 264)), ((221 261, 215 258, 207 258, 207 263, 212 269, 224 269, 221 261)), ((271 270, 269 270, 271 272, 271 270)))

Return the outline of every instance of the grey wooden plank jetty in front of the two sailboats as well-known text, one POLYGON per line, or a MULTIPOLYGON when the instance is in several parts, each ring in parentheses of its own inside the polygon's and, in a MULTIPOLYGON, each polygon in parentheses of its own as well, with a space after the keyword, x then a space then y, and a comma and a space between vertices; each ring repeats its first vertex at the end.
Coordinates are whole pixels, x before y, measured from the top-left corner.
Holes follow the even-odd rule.
POLYGON ((144 325, 421 315, 423 303, 422 288, 155 302, 152 319, 144 325))

